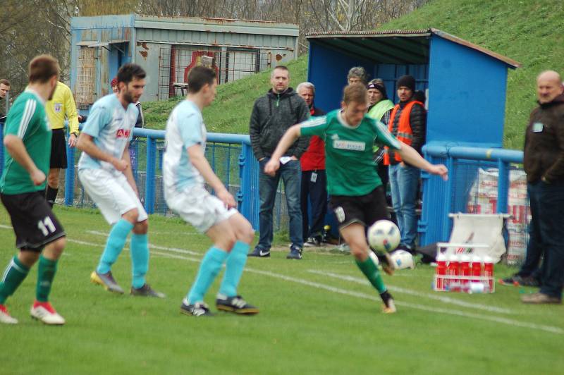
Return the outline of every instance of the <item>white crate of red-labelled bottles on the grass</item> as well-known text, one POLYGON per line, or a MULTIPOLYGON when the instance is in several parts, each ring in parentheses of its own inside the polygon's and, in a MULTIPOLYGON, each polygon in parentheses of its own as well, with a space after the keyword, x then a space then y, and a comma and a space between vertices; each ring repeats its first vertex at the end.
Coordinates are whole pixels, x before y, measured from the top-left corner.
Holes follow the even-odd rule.
POLYGON ((439 254, 433 289, 439 292, 494 293, 494 261, 471 254, 439 254))

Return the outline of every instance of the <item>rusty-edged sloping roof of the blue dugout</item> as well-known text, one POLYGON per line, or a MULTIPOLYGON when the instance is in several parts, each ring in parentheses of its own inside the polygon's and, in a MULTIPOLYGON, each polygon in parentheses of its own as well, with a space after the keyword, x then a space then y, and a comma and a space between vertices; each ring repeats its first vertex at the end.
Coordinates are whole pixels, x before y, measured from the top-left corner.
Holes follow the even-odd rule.
POLYGON ((431 35, 437 35, 443 39, 450 40, 450 42, 480 51, 494 59, 503 61, 510 68, 519 68, 521 66, 520 63, 513 59, 434 28, 419 30, 309 32, 306 38, 315 39, 319 44, 346 54, 364 56, 379 63, 420 64, 429 62, 429 39, 431 35))

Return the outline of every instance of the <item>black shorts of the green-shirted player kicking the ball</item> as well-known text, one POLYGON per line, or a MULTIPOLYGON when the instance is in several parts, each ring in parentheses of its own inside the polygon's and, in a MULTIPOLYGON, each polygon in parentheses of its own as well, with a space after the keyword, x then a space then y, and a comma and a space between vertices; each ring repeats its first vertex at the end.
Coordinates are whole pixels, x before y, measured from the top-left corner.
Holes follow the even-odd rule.
POLYGON ((384 188, 379 186, 367 195, 349 197, 348 195, 331 195, 329 205, 335 213, 339 229, 360 223, 372 226, 376 221, 390 219, 384 188))

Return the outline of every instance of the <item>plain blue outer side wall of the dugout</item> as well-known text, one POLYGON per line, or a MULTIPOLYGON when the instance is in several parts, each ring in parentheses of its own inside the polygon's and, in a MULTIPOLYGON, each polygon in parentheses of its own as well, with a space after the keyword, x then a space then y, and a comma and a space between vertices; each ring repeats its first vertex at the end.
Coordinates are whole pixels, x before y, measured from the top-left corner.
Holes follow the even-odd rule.
POLYGON ((436 35, 430 61, 427 142, 502 147, 505 63, 436 35))

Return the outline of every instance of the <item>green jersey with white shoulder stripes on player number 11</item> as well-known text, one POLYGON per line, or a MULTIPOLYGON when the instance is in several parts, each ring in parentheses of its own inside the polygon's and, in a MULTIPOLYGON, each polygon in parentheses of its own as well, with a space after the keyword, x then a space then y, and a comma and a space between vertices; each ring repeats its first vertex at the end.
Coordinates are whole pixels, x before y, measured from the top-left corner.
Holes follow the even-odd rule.
MULTIPOLYGON (((13 103, 4 125, 4 137, 8 134, 16 135, 23 141, 27 154, 30 154, 37 168, 47 176, 51 159, 51 127, 45 113, 45 102, 36 92, 27 89, 13 103)), ((4 149, 0 192, 22 194, 44 189, 45 183, 33 185, 30 173, 4 149)))

